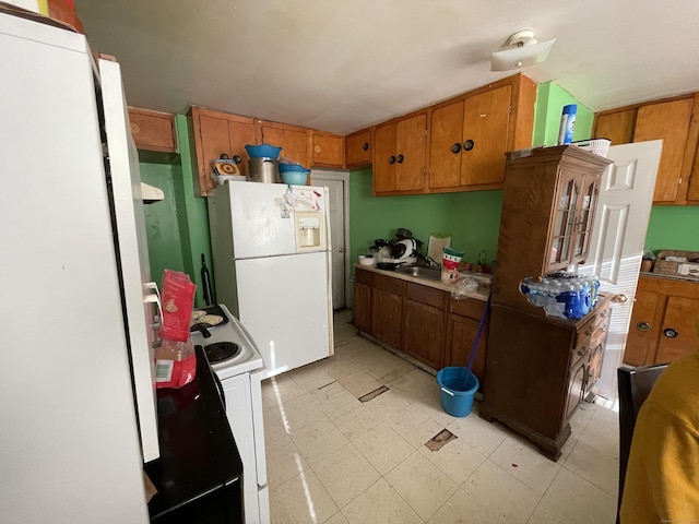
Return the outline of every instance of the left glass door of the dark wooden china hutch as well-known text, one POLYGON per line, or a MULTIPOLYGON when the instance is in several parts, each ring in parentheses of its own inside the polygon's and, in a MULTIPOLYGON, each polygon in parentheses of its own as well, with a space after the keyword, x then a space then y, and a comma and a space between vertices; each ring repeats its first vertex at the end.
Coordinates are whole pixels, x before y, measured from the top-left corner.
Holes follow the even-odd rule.
POLYGON ((549 270, 566 267, 571 258, 577 206, 580 200, 580 180, 574 176, 562 177, 559 188, 548 251, 549 270))

